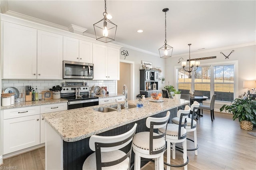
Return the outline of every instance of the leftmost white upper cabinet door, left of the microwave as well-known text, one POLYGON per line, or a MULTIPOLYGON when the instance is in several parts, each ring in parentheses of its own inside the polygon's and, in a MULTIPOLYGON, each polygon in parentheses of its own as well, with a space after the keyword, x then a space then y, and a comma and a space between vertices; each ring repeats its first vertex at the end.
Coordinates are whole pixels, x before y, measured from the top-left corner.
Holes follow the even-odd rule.
POLYGON ((36 79, 36 36, 34 28, 3 22, 3 78, 36 79))

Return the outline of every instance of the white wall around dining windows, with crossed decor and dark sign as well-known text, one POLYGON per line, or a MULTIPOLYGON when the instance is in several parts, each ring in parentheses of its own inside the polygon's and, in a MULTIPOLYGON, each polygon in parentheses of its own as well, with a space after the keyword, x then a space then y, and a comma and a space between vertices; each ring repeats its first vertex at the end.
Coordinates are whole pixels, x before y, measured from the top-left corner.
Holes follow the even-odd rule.
MULTIPOLYGON (((191 49, 193 46, 191 45, 191 49)), ((175 50, 175 49, 174 49, 175 50)), ((202 51, 201 51, 202 52, 202 51)), ((216 59, 204 59, 200 60, 200 64, 205 63, 216 63, 216 62, 224 62, 224 61, 238 61, 238 95, 241 95, 246 91, 246 89, 242 88, 244 80, 256 80, 256 45, 249 45, 244 47, 236 47, 224 50, 216 50, 206 53, 190 53, 190 58, 202 58, 202 57, 210 57, 216 56, 216 59), (229 59, 225 59, 226 57, 220 52, 224 53, 226 56, 234 50, 233 53, 230 54, 229 59)), ((170 81, 171 85, 175 86, 175 66, 181 66, 181 62, 178 63, 178 59, 182 57, 186 61, 189 59, 189 55, 183 55, 179 57, 171 57, 166 61, 166 82, 170 81)))

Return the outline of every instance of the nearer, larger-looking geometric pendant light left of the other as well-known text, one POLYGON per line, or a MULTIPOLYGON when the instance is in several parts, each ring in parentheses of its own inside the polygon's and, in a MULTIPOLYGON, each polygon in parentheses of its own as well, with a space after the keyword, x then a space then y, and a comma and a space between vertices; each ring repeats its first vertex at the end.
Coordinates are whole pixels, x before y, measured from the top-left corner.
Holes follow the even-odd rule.
POLYGON ((117 25, 108 20, 105 0, 105 12, 103 12, 104 18, 99 22, 93 24, 96 40, 101 42, 112 42, 115 40, 117 25))

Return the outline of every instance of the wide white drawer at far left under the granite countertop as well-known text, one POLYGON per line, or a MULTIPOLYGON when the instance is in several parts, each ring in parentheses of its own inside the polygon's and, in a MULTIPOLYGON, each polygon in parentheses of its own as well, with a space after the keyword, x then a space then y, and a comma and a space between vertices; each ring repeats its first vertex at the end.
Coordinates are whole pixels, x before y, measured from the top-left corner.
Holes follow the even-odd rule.
POLYGON ((3 115, 4 119, 11 119, 16 117, 24 117, 31 115, 40 114, 40 106, 32 106, 32 107, 22 107, 16 109, 4 109, 3 115))

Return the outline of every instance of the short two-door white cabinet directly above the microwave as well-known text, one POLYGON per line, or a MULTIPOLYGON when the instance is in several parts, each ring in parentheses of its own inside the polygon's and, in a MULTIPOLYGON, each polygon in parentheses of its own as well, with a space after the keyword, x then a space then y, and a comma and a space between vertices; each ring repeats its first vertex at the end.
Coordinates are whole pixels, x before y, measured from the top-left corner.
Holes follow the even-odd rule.
POLYGON ((92 43, 64 36, 63 60, 92 63, 92 43))

